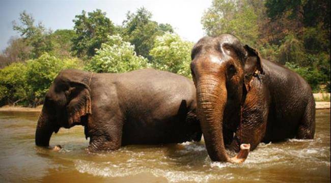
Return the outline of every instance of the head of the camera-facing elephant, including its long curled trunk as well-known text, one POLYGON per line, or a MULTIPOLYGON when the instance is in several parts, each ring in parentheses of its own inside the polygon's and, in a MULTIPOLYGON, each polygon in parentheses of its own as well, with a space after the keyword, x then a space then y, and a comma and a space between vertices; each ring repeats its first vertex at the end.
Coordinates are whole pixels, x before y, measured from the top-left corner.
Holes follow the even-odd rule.
MULTIPOLYGON (((212 161, 236 162, 226 153, 224 133, 230 137, 240 123, 241 105, 250 81, 263 73, 260 57, 253 48, 229 34, 204 37, 191 52, 191 74, 197 88, 197 112, 206 148, 212 161)), ((250 145, 242 144, 237 158, 247 157, 250 145), (245 155, 244 155, 245 154, 245 155)))

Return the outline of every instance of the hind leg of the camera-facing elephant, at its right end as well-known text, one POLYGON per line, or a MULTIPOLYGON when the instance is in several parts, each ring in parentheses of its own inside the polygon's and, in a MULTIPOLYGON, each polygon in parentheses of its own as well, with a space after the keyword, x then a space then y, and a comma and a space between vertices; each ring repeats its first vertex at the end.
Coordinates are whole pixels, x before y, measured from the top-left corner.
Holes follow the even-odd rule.
POLYGON ((315 134, 315 101, 311 101, 302 116, 296 138, 313 139, 315 134))

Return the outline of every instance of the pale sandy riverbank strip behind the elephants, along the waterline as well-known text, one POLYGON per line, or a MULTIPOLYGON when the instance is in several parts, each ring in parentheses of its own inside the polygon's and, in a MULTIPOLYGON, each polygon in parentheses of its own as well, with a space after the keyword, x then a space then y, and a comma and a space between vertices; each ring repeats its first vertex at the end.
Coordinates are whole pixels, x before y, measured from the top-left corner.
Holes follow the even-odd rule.
MULTIPOLYGON (((21 106, 3 106, 0 107, 0 112, 2 111, 12 111, 12 112, 40 112, 42 105, 36 108, 32 107, 21 107, 21 106)), ((330 109, 330 102, 316 102, 316 109, 330 109)))

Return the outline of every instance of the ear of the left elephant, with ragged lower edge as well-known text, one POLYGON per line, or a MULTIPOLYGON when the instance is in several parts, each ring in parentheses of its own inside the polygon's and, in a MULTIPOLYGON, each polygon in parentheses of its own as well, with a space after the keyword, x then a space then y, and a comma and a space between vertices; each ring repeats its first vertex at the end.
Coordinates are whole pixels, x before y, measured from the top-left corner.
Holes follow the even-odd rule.
POLYGON ((70 82, 70 88, 66 91, 69 125, 79 124, 81 116, 92 114, 90 91, 90 87, 85 83, 70 82))

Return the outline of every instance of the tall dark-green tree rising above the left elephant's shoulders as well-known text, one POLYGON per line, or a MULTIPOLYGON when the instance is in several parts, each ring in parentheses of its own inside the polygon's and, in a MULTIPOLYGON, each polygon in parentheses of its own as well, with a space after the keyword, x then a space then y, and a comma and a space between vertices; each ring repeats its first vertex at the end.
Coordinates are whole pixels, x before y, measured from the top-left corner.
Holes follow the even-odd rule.
POLYGON ((95 49, 99 49, 101 44, 108 41, 107 36, 113 35, 115 26, 106 13, 97 9, 86 15, 82 11, 73 20, 76 36, 72 39, 73 54, 80 58, 91 58, 95 54, 95 49))

